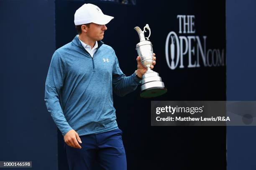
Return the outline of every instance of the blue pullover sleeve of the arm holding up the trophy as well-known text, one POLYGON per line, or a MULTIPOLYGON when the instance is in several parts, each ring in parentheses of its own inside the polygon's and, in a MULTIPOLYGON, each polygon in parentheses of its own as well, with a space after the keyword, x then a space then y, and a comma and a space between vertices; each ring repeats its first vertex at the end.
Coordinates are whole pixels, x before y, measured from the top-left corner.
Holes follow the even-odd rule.
POLYGON ((138 85, 141 84, 141 80, 136 77, 135 73, 130 76, 125 76, 119 67, 118 58, 116 57, 114 50, 113 55, 115 57, 115 64, 112 71, 113 91, 118 96, 125 96, 136 90, 138 85))

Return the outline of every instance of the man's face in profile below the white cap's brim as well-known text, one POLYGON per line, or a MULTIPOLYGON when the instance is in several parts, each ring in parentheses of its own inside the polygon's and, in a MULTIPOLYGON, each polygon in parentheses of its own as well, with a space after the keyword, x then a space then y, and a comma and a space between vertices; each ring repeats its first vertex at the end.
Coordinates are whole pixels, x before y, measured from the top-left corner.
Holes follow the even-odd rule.
POLYGON ((106 25, 91 23, 90 27, 87 28, 87 37, 90 37, 90 39, 94 41, 102 40, 105 30, 107 30, 106 25))

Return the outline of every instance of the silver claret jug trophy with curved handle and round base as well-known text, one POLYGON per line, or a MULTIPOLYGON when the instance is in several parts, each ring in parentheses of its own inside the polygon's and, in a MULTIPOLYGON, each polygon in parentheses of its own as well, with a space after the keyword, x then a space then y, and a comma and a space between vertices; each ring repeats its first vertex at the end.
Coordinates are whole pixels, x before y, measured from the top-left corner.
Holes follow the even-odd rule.
POLYGON ((148 69, 142 75, 141 97, 148 98, 163 95, 167 92, 167 89, 164 87, 164 82, 162 82, 162 79, 157 72, 150 69, 150 65, 152 65, 153 62, 153 48, 151 42, 148 41, 148 37, 151 34, 150 28, 148 24, 146 24, 143 31, 139 27, 135 27, 134 29, 138 32, 140 37, 140 42, 136 45, 138 56, 141 57, 141 64, 148 69), (144 32, 146 32, 146 29, 148 29, 149 35, 145 39, 144 32))

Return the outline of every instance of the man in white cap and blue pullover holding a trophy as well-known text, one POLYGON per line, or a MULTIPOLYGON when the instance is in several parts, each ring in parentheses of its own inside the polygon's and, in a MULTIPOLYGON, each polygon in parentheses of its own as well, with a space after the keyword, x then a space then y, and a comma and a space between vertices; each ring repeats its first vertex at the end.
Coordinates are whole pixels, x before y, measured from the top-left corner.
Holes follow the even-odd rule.
MULTIPOLYGON (((74 15, 79 35, 51 59, 45 101, 64 136, 70 170, 90 170, 95 162, 108 170, 126 169, 112 95, 134 91, 146 68, 138 56, 138 69, 131 76, 120 70, 113 48, 101 41, 112 19, 96 5, 82 5, 74 15)), ((155 65, 155 56, 153 60, 155 65)))

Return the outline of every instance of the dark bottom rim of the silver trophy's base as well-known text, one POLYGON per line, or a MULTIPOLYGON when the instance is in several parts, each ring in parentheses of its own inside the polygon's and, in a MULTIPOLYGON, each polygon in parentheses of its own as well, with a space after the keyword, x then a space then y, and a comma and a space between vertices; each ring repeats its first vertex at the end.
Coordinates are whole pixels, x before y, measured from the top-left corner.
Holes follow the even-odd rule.
POLYGON ((140 96, 143 98, 157 97, 167 92, 165 87, 151 87, 141 91, 140 96))

